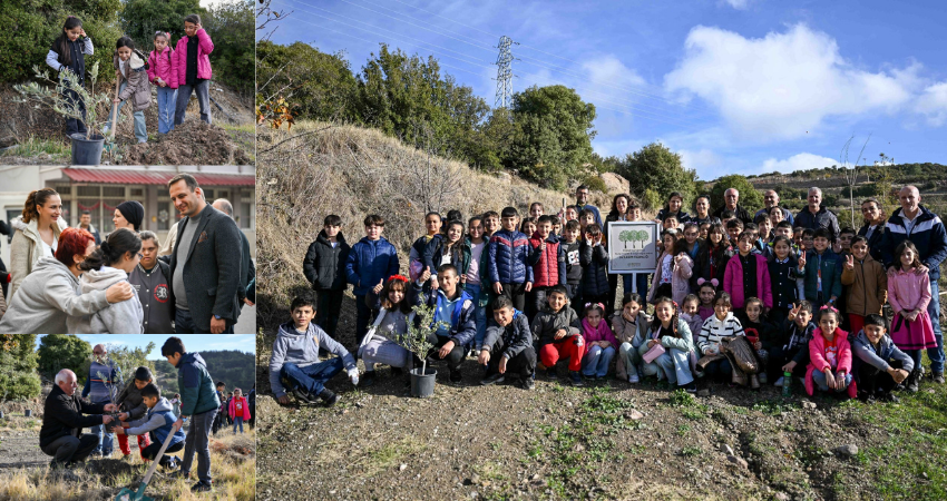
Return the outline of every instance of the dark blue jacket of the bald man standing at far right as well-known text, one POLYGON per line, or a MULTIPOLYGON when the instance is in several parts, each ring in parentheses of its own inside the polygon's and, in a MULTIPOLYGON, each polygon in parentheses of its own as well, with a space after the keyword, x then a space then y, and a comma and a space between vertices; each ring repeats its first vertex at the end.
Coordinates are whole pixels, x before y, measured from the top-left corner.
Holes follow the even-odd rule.
POLYGON ((920 262, 930 269, 930 281, 937 283, 937 278, 940 278, 940 263, 947 258, 947 232, 936 214, 922 205, 919 208, 920 214, 915 218, 910 233, 906 230, 901 219, 904 209, 895 210, 888 218, 885 236, 881 237, 881 262, 886 268, 890 267, 895 263, 895 249, 901 242, 909 239, 917 247, 920 262))

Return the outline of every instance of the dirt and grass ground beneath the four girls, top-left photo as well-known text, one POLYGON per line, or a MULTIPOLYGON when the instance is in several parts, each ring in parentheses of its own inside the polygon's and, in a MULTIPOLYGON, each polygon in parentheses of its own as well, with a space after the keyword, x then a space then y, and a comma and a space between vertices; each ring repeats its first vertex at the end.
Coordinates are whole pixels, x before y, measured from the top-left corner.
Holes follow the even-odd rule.
MULTIPOLYGON (((156 90, 153 89, 153 96, 156 90)), ((36 109, 12 102, 18 97, 11 87, 0 89, 0 147, 25 141, 29 137, 61 140, 69 147, 65 121, 49 109, 36 109)), ((138 145, 134 136, 131 107, 120 112, 116 130, 116 148, 102 154, 104 165, 248 165, 254 161, 255 143, 253 132, 253 104, 228 88, 216 82, 211 85, 211 97, 221 106, 211 104, 214 124, 207 126, 199 120, 199 107, 192 96, 185 122, 165 137, 158 136, 157 99, 145 110, 145 124, 149 140, 138 145)), ((107 106, 99 108, 100 116, 109 112, 107 106)), ((68 156, 38 154, 22 156, 8 154, 4 165, 68 164, 68 156)))

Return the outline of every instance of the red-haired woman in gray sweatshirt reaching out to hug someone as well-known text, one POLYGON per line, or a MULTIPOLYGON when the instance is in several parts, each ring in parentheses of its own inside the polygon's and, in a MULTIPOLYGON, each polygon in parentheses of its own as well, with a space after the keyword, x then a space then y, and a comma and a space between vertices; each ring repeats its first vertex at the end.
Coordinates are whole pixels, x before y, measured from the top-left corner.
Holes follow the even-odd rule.
POLYGON ((0 332, 17 334, 67 332, 69 316, 90 315, 134 296, 127 282, 106 291, 78 295, 79 263, 96 248, 95 237, 80 228, 66 228, 59 234, 56 257, 42 257, 23 278, 17 295, 10 298, 0 321, 0 332))

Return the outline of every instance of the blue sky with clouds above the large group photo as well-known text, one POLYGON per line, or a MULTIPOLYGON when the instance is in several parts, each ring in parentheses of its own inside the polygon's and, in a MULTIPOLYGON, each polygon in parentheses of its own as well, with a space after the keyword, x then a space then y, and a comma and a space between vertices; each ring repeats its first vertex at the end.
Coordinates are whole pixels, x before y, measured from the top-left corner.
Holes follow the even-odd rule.
POLYGON ((344 51, 379 42, 433 55, 494 105, 496 46, 514 90, 563 84, 597 107, 593 141, 624 155, 654 140, 702 179, 840 164, 871 135, 897 163, 947 163, 947 9, 912 2, 774 0, 274 0, 272 40, 344 51))

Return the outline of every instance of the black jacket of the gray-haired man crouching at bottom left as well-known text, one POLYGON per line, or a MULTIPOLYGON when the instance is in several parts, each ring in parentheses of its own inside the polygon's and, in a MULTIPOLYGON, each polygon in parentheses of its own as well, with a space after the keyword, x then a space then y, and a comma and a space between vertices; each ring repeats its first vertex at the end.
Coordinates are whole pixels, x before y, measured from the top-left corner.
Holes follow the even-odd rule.
POLYGON ((66 435, 79 438, 84 428, 102 424, 101 413, 105 404, 94 404, 79 396, 79 390, 72 396, 66 394, 59 385, 53 385, 42 407, 42 428, 39 430, 39 446, 45 448, 66 435), (82 415, 90 414, 90 415, 82 415))

